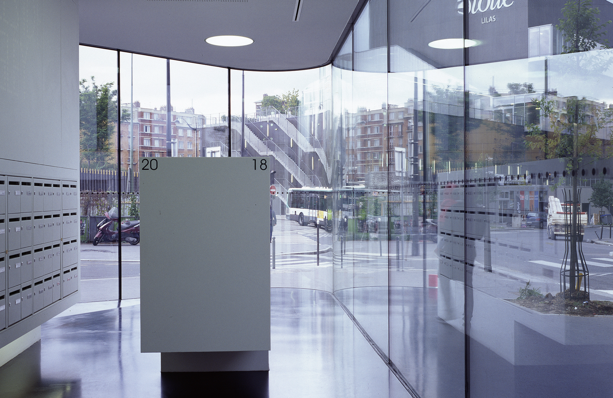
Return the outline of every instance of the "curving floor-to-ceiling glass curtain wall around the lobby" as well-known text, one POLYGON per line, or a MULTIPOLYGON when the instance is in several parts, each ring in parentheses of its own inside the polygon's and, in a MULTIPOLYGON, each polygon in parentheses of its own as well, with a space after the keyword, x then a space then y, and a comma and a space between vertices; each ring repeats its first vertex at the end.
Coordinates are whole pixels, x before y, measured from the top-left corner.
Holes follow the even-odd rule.
MULTIPOLYGON (((608 396, 609 20, 609 2, 371 0, 318 69, 122 53, 121 159, 117 52, 82 48, 82 240, 117 192, 137 217, 139 157, 269 156, 272 286, 332 293, 415 396, 608 396)), ((117 298, 117 249, 82 244, 84 298, 117 298)))

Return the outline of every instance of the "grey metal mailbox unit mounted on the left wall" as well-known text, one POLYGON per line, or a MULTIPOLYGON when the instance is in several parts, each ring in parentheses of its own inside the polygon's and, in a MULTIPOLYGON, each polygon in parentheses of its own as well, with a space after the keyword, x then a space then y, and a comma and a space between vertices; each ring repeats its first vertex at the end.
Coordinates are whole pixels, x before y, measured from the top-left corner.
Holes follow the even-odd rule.
POLYGON ((0 347, 78 302, 78 208, 75 181, 0 176, 0 347))

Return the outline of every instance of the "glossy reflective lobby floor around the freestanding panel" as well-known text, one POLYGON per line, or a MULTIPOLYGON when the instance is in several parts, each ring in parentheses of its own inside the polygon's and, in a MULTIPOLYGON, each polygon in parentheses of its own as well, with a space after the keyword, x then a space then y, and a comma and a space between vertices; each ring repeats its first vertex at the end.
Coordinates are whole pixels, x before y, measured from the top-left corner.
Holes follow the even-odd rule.
POLYGON ((0 368, 0 396, 409 397, 329 293, 273 288, 271 298, 270 372, 162 377, 159 354, 140 353, 134 305, 45 323, 40 342, 0 368))

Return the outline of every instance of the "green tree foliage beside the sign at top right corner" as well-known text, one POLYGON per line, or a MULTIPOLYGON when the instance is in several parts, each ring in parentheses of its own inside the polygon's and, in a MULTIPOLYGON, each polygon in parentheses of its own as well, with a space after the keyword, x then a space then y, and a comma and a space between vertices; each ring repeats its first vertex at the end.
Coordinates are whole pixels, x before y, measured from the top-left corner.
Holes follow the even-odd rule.
POLYGON ((611 23, 600 23, 598 18, 600 10, 592 7, 592 0, 569 0, 562 9, 564 18, 560 18, 560 24, 555 28, 563 31, 566 43, 564 53, 579 53, 594 50, 598 45, 607 47, 609 42, 604 39, 606 31, 603 29, 611 23))

